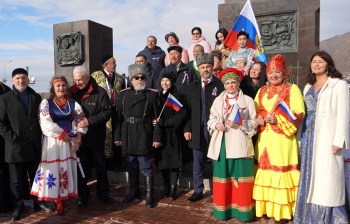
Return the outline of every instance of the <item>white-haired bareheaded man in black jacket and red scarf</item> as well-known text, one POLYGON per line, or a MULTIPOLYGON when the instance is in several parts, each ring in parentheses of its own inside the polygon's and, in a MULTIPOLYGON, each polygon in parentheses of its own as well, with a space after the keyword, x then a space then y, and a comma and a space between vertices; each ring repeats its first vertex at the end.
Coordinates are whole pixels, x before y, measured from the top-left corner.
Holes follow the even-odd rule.
POLYGON ((95 165, 98 197, 106 204, 111 204, 113 200, 108 196, 109 182, 104 158, 106 122, 111 118, 111 102, 106 91, 90 78, 84 66, 74 68, 73 80, 72 98, 82 106, 85 114, 85 118, 77 125, 80 128, 89 127, 88 132, 82 137, 82 146, 77 152, 85 173, 85 178, 83 178, 78 172, 78 206, 85 207, 90 197, 87 186, 87 180, 91 176, 89 161, 93 161, 95 165))

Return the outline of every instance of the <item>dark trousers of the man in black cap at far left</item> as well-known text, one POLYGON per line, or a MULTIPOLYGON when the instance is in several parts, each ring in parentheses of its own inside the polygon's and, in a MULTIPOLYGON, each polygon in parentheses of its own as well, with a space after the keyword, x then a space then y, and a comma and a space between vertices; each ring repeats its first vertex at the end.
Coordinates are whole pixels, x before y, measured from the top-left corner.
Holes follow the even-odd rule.
MULTIPOLYGON (((25 178, 23 175, 28 173, 30 186, 32 186, 38 166, 39 161, 9 163, 11 199, 15 208, 23 205, 24 192, 28 191, 28 184, 23 183, 25 178)), ((36 196, 32 197, 34 200, 37 199, 36 196)))

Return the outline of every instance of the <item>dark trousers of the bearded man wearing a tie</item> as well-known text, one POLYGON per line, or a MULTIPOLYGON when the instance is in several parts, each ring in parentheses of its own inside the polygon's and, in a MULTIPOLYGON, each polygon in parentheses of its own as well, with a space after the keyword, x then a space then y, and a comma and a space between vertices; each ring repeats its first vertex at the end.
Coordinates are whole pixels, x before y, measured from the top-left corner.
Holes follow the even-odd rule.
POLYGON ((204 162, 206 158, 207 155, 204 151, 193 149, 193 188, 196 193, 204 190, 204 162))

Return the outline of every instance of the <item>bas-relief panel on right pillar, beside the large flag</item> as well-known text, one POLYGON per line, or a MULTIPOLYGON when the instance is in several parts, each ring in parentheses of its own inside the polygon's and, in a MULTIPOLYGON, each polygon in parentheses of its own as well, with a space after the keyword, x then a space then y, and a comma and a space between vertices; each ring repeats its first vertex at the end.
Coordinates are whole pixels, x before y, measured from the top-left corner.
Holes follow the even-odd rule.
POLYGON ((257 17, 261 40, 269 53, 297 51, 296 12, 257 17))

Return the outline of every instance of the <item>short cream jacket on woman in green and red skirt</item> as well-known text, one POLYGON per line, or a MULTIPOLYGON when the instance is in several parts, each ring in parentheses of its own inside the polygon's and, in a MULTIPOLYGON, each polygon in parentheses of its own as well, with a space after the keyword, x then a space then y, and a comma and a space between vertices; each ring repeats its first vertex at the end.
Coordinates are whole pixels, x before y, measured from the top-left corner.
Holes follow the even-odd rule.
POLYGON ((208 120, 208 130, 211 135, 208 148, 208 158, 217 160, 220 154, 220 147, 223 134, 225 133, 226 158, 237 159, 254 156, 254 146, 251 137, 256 133, 257 123, 255 121, 256 111, 252 98, 243 95, 239 91, 237 104, 240 108, 243 124, 246 128, 229 128, 228 131, 222 132, 215 128, 217 123, 224 123, 223 108, 226 91, 223 91, 215 100, 210 109, 208 120))

